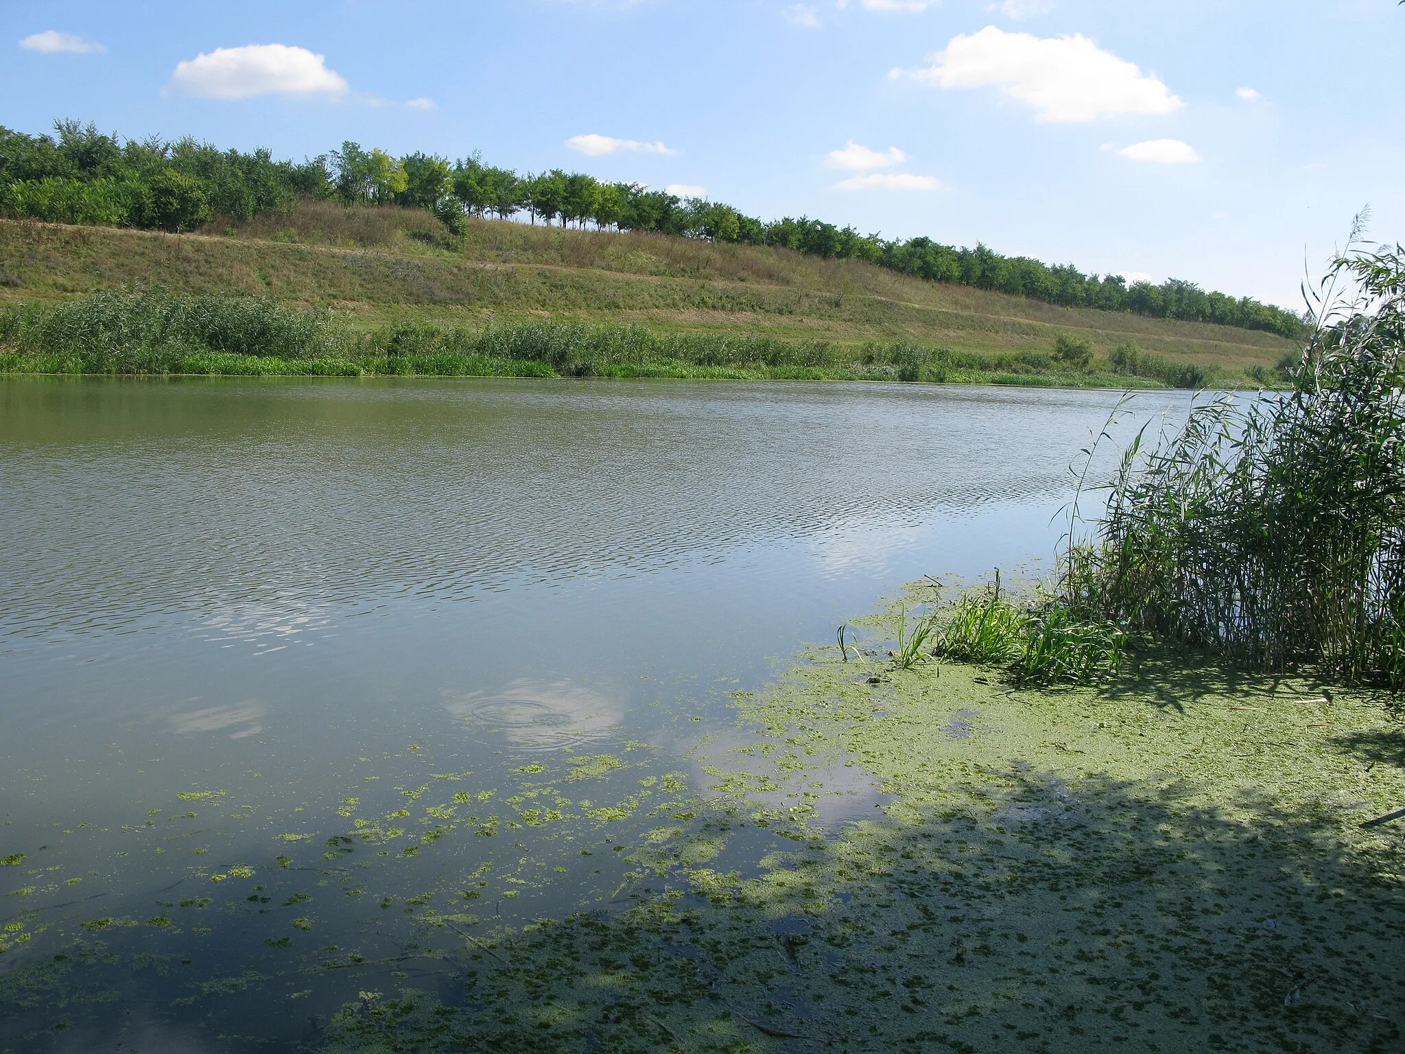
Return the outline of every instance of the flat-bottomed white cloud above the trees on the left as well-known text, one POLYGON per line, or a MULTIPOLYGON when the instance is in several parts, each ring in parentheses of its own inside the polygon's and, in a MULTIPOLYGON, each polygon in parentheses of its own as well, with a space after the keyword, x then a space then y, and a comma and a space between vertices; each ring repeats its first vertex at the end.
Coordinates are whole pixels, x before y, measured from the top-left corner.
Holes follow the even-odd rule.
POLYGON ((341 96, 347 83, 327 69, 326 55, 287 44, 246 44, 216 48, 177 63, 167 91, 197 98, 253 96, 341 96))

